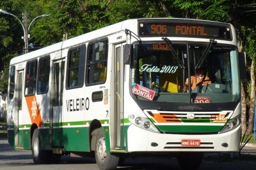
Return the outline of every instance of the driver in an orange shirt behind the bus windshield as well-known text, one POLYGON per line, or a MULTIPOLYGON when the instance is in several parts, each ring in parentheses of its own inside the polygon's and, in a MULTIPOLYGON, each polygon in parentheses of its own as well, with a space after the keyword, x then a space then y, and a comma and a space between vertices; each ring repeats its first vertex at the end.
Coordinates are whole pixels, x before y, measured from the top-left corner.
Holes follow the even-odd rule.
MULTIPOLYGON (((196 75, 191 76, 191 90, 194 90, 197 85, 209 85, 211 84, 211 80, 208 76, 205 76, 204 69, 200 68, 197 70, 196 75)), ((188 78, 184 83, 182 92, 186 92, 188 90, 188 78)))

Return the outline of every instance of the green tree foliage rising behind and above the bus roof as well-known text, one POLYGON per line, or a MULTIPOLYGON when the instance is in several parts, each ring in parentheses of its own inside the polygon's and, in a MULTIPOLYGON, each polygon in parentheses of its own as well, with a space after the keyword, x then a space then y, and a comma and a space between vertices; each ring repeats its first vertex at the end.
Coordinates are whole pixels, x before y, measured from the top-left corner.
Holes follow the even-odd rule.
MULTIPOLYGON (((231 22, 237 29, 239 44, 247 53, 248 63, 253 63, 256 58, 255 4, 256 0, 5 0, 0 1, 0 8, 20 20, 22 13, 28 11, 30 24, 33 18, 49 14, 48 17, 37 18, 31 24, 29 43, 33 44, 33 48, 29 50, 129 18, 179 17, 231 22)), ((16 18, 0 13, 1 92, 7 89, 10 59, 20 55, 24 48, 24 40, 21 39, 23 34, 16 18)), ((248 81, 244 85, 247 94, 255 90, 251 89, 250 67, 248 64, 248 81)))

